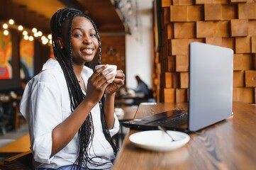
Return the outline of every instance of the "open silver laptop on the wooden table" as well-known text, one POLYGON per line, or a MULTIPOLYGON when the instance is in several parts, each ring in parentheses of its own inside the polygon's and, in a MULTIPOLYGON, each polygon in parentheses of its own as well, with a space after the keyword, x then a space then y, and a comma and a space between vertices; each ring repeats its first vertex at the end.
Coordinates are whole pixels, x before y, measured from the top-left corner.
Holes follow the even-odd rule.
POLYGON ((233 50, 202 42, 189 45, 188 111, 167 111, 121 123, 126 128, 195 132, 233 111, 233 50))

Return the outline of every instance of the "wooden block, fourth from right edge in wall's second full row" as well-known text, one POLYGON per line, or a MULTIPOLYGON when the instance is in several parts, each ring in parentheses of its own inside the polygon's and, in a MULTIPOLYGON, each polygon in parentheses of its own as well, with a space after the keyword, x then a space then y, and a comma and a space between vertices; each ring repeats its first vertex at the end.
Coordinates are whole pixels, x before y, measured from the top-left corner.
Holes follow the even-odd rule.
POLYGON ((196 38, 214 37, 213 35, 213 21, 196 22, 196 38))

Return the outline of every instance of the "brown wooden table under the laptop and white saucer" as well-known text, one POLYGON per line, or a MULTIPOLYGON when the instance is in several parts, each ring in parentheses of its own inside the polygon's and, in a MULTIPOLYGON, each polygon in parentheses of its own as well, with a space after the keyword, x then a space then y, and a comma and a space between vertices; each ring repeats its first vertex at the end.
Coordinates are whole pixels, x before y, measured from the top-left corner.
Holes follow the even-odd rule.
MULTIPOLYGON (((135 115, 140 118, 186 104, 157 103, 141 105, 135 115)), ((147 169, 256 169, 256 106, 233 102, 233 116, 199 132, 189 134, 184 147, 171 152, 151 152, 135 147, 128 137, 114 162, 113 170, 147 169)))

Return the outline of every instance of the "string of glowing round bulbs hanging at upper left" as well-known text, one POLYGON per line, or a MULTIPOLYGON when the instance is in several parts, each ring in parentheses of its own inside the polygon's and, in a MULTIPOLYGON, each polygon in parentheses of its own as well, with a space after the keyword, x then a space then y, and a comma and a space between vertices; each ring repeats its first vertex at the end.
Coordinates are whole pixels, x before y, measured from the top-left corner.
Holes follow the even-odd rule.
POLYGON ((24 28, 23 26, 19 25, 16 26, 15 21, 13 19, 10 19, 8 22, 0 22, 2 23, 2 27, 4 28, 4 35, 9 35, 9 30, 7 30, 8 28, 13 28, 16 29, 18 31, 22 31, 22 35, 24 40, 30 40, 33 41, 35 40, 35 38, 40 38, 41 42, 43 43, 43 45, 51 45, 52 44, 52 35, 48 35, 47 38, 45 37, 45 35, 43 35, 42 31, 38 30, 37 28, 32 28, 28 29, 28 28, 24 28))

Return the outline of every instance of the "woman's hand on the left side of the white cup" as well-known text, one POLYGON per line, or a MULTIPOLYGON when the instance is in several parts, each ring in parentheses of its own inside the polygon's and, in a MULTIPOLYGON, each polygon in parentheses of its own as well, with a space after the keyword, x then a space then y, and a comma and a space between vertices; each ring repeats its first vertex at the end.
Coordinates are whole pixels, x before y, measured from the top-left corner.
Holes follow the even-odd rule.
POLYGON ((99 102, 104 95, 106 86, 111 84, 113 78, 116 76, 116 74, 109 74, 113 71, 113 69, 107 69, 106 71, 102 72, 104 69, 106 69, 106 67, 108 67, 108 64, 96 69, 88 79, 87 95, 84 99, 91 101, 91 103, 96 104, 99 102))

